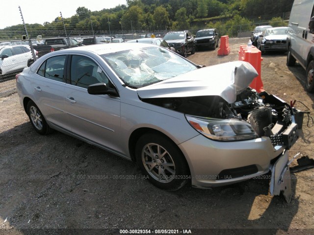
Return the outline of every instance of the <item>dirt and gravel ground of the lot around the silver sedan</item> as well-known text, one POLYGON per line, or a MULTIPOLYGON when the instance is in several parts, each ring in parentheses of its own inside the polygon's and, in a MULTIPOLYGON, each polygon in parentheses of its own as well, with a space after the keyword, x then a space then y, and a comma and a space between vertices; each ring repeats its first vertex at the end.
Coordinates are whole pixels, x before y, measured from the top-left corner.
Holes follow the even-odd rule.
MULTIPOLYGON (((216 49, 198 51, 188 59, 205 65, 235 61, 239 45, 247 40, 231 39, 228 56, 218 57, 216 49)), ((313 115, 314 95, 304 91, 305 72, 299 65, 288 69, 286 56, 263 55, 264 88, 286 101, 302 101, 313 115)), ((305 110, 300 104, 296 107, 305 110)), ((0 113, 0 234, 44 234, 48 230, 29 229, 70 228, 106 229, 74 230, 74 234, 120 234, 119 229, 314 234, 314 169, 292 175, 290 204, 283 197, 270 196, 269 182, 258 179, 212 190, 186 186, 168 192, 142 179, 137 166, 129 161, 58 132, 36 134, 17 94, 0 98, 0 113), (117 179, 121 175, 136 179, 117 179), (265 228, 272 230, 262 230, 265 228)), ((314 158, 314 128, 306 124, 304 118, 301 138, 290 157, 301 152, 314 158)))

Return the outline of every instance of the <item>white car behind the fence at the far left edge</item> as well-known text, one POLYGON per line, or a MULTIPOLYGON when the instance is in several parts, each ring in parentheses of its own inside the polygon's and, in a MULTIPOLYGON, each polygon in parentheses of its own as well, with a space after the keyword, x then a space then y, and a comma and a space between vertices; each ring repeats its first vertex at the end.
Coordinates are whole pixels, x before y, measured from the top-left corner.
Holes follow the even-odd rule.
MULTIPOLYGON (((34 54, 37 56, 36 50, 34 54)), ((1 79, 22 71, 34 62, 28 45, 0 46, 0 58, 1 79)))

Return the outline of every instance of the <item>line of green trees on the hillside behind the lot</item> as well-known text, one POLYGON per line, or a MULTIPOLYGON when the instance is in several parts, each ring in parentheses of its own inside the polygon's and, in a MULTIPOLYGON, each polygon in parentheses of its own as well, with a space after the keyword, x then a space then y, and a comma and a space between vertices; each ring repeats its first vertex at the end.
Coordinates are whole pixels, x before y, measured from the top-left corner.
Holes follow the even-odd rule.
MULTIPOLYGON (((178 30, 253 24, 273 17, 280 19, 283 12, 289 12, 292 0, 127 0, 126 5, 110 9, 90 11, 78 7, 76 14, 60 17, 43 24, 27 24, 27 30, 94 30, 111 32, 124 28, 138 30, 178 30)), ((251 27, 251 26, 248 26, 251 27)), ((0 38, 12 38, 24 30, 22 24, 0 29, 0 38), (2 31, 2 32, 1 32, 2 31)), ((234 29, 226 31, 233 34, 234 29)))

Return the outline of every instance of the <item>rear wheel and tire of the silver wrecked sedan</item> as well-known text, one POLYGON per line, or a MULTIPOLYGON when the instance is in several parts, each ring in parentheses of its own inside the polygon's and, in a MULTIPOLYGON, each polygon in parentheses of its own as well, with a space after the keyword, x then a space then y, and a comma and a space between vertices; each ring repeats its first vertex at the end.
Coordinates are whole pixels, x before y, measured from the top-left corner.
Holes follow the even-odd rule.
POLYGON ((52 132, 52 129, 47 124, 43 114, 32 100, 28 101, 26 112, 33 128, 40 135, 47 135, 52 132))

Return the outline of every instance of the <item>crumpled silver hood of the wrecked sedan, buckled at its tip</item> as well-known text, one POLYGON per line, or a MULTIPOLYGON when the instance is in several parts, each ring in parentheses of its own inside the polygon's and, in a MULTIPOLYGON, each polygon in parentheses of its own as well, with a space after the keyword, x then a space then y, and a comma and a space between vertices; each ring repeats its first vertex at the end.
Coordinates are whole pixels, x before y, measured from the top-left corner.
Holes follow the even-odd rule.
POLYGON ((140 98, 166 98, 218 95, 234 103, 258 76, 254 67, 244 61, 204 67, 177 77, 137 89, 140 98))

